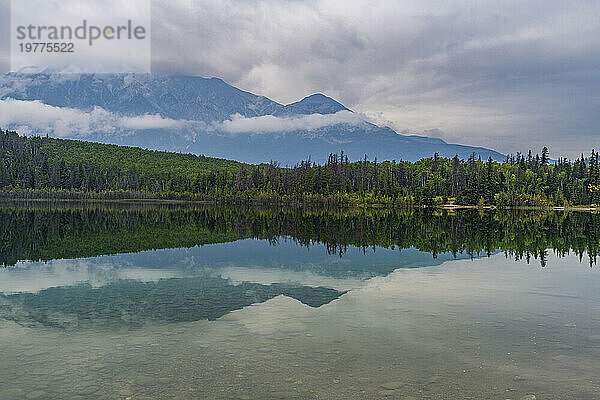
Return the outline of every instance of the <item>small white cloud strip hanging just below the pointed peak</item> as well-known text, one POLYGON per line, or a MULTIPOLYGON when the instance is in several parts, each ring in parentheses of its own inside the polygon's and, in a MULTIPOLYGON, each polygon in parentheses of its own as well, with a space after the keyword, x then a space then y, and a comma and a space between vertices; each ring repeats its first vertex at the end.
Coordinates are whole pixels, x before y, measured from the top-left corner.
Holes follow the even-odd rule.
POLYGON ((338 124, 359 125, 364 123, 365 121, 360 115, 342 110, 335 114, 310 114, 285 117, 265 115, 245 118, 236 114, 231 119, 216 125, 216 127, 218 130, 228 133, 274 133, 297 130, 311 131, 338 124))

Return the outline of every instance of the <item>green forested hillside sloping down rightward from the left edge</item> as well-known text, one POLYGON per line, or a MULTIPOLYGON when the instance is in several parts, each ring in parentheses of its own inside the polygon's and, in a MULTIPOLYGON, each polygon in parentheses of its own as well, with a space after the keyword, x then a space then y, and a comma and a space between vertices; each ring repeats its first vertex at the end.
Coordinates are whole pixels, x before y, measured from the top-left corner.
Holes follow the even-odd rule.
POLYGON ((204 191, 236 161, 0 131, 0 187, 147 193, 204 191))

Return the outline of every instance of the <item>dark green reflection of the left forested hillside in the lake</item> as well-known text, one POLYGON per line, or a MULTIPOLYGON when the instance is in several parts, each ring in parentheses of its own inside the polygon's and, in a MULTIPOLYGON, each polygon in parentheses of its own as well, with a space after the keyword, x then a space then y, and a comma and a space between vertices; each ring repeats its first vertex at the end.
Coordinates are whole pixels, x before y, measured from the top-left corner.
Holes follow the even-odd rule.
POLYGON ((0 208, 0 265, 192 247, 250 236, 231 229, 224 219, 193 208, 0 208))

